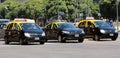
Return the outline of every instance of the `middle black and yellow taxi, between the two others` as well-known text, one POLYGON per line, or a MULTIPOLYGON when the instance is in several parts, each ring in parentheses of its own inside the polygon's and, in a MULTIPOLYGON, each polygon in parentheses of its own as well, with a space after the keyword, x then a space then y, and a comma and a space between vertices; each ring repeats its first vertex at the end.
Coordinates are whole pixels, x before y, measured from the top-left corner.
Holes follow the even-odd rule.
POLYGON ((59 42, 66 42, 66 40, 83 42, 85 34, 82 29, 68 22, 51 22, 45 26, 45 33, 47 40, 56 39, 59 42))

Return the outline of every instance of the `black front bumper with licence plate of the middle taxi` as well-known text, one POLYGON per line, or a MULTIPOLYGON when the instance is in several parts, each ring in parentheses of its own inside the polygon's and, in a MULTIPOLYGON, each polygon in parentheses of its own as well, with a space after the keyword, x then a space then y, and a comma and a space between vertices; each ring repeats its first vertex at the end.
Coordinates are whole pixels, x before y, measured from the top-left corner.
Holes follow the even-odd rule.
POLYGON ((67 40, 77 40, 77 39, 84 39, 85 34, 63 34, 63 39, 67 40))

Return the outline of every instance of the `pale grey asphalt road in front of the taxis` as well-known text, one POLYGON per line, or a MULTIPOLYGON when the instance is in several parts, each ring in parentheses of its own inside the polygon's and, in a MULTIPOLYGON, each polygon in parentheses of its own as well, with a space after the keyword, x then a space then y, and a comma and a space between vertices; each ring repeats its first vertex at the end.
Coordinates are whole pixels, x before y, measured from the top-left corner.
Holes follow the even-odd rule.
POLYGON ((85 39, 83 43, 49 41, 44 45, 39 43, 5 45, 1 40, 0 58, 120 58, 119 38, 117 41, 85 39))

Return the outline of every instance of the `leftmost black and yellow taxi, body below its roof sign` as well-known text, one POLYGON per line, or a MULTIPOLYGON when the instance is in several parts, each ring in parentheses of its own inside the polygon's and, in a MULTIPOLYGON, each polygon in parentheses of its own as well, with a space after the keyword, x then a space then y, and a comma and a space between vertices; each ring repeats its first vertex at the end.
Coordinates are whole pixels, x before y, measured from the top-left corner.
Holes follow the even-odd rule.
POLYGON ((33 22, 13 21, 8 23, 5 29, 5 44, 10 42, 19 42, 20 45, 28 42, 45 43, 44 31, 33 22))

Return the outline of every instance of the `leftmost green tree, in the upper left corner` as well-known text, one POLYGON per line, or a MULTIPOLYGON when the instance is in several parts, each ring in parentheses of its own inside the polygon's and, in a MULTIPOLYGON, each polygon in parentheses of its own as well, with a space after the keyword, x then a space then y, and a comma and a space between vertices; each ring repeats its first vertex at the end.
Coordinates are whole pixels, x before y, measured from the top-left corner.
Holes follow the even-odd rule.
POLYGON ((0 13, 4 18, 12 18, 17 13, 13 11, 16 7, 19 6, 18 0, 6 0, 4 3, 1 4, 0 13), (13 12, 12 12, 13 11, 13 12))

